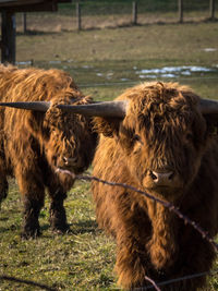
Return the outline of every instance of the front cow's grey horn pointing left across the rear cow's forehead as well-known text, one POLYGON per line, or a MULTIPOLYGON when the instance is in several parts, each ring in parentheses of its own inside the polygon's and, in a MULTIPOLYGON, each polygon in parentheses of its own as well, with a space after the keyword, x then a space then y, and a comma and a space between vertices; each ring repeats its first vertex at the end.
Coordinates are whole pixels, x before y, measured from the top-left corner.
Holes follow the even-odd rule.
POLYGON ((99 101, 87 105, 58 105, 58 108, 73 113, 92 117, 124 118, 128 101, 99 101))

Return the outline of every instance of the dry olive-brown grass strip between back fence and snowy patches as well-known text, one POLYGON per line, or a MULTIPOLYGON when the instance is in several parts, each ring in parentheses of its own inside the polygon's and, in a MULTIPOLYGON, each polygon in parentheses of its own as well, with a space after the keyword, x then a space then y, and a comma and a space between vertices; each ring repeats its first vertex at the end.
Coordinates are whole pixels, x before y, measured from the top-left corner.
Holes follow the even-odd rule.
POLYGON ((44 63, 98 62, 101 66, 110 65, 109 62, 119 66, 118 61, 147 68, 166 63, 211 65, 217 63, 218 50, 205 52, 204 49, 217 48, 217 35, 216 22, 19 35, 16 59, 44 63))

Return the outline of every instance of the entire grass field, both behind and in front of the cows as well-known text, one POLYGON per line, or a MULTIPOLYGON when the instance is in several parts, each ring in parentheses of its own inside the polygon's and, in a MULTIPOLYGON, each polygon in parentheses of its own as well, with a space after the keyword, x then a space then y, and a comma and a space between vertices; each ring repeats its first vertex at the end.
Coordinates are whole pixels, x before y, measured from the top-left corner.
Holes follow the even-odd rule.
MULTIPOLYGON (((43 19, 40 25, 44 26, 43 19)), ((201 96, 217 98, 217 22, 19 34, 16 60, 21 68, 32 62, 39 68, 69 71, 82 90, 96 100, 112 99, 124 88, 150 80, 181 82, 201 96), (181 74, 173 69, 165 74, 162 70, 181 66, 190 69, 181 74), (145 70, 150 71, 145 74, 145 70)), ((97 228, 89 183, 76 182, 65 207, 69 233, 57 235, 49 230, 46 201, 40 214, 43 235, 23 241, 22 204, 17 185, 10 180, 10 193, 0 211, 0 276, 33 280, 57 290, 120 290, 112 270, 116 245, 97 228)), ((0 280, 0 291, 11 290, 44 288, 0 280)), ((214 276, 207 291, 216 290, 218 277, 214 276)))

